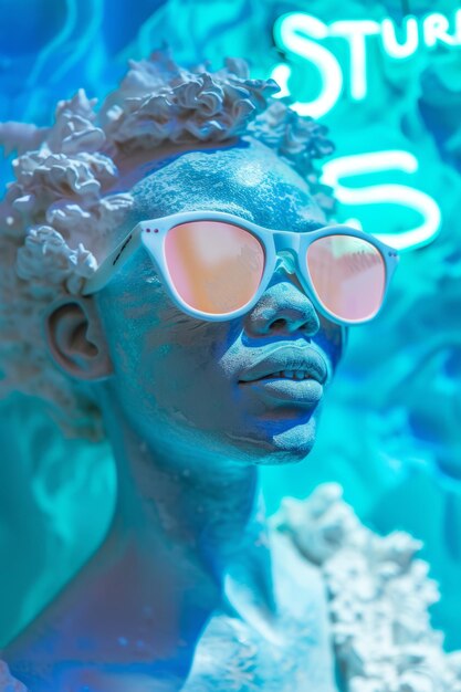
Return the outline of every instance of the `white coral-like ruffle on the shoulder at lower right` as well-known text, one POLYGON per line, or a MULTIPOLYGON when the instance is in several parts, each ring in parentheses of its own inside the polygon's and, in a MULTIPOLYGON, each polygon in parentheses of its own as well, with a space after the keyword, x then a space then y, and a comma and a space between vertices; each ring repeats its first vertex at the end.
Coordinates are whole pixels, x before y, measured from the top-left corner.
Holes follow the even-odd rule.
POLYGON ((336 484, 307 500, 285 499, 273 526, 322 569, 346 690, 461 692, 461 652, 444 652, 430 625, 439 591, 416 557, 418 541, 366 527, 336 484))

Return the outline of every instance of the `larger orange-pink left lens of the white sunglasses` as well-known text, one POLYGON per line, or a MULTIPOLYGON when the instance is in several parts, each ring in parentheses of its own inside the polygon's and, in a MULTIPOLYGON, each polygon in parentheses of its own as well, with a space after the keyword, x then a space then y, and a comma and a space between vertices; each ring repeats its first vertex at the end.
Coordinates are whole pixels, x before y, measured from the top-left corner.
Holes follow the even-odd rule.
POLYGON ((165 254, 182 301, 209 315, 226 315, 254 297, 264 250, 249 231, 222 221, 190 221, 168 231, 165 254))

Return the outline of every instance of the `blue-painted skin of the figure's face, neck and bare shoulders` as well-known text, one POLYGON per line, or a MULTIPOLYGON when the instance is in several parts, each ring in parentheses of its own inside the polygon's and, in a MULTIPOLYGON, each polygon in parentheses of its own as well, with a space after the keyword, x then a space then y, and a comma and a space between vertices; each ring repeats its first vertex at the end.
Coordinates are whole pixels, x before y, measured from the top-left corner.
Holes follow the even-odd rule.
MULTIPOLYGON (((200 209, 300 233, 325 223, 305 182, 256 144, 184 154, 133 193, 126 227, 200 209)), ((222 323, 178 311, 143 250, 93 300, 86 338, 102 327, 96 350, 112 371, 82 386, 113 445, 115 516, 90 563, 3 653, 12 673, 31 692, 333 692, 322 576, 268 530, 258 465, 310 452, 340 327, 283 265, 250 313, 222 323), (319 394, 292 400, 283 388, 294 384, 281 381, 274 398, 240 381, 279 346, 323 359, 319 394)), ((94 343, 71 346, 88 367, 94 343)))

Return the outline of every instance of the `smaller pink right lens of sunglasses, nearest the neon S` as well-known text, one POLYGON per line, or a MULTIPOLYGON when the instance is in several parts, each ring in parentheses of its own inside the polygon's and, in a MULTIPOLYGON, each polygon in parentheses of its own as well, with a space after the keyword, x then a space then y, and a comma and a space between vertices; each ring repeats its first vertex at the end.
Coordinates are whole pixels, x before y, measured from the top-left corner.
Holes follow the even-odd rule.
POLYGON ((352 235, 327 235, 307 249, 307 269, 325 308, 345 322, 370 319, 379 311, 385 261, 371 243, 352 235))

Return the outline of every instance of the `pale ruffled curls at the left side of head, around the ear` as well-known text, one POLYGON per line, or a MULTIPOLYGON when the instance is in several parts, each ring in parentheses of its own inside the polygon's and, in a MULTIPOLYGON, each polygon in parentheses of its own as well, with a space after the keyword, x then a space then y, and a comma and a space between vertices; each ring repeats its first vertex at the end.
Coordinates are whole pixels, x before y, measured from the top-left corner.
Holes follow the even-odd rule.
POLYGON ((15 181, 0 205, 0 394, 38 396, 75 416, 74 430, 99 437, 94 407, 53 367, 43 312, 77 294, 130 207, 129 195, 106 195, 117 170, 95 149, 105 141, 83 92, 60 103, 40 149, 13 162, 15 181))

